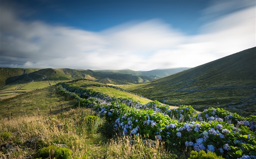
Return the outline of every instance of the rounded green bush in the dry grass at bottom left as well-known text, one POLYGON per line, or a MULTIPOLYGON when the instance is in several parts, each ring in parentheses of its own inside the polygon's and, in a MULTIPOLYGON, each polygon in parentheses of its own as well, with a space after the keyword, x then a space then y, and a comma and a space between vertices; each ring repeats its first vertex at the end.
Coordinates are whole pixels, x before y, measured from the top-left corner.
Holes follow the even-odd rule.
POLYGON ((72 151, 65 147, 48 146, 37 151, 38 158, 70 159, 72 151))

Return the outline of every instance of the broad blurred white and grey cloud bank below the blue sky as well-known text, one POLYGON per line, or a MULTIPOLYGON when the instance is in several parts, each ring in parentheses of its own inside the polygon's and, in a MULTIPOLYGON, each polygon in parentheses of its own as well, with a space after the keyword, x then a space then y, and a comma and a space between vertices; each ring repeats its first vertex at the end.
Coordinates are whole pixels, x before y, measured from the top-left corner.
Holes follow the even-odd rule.
POLYGON ((0 67, 146 71, 195 67, 255 47, 255 3, 232 4, 235 11, 216 16, 216 6, 230 6, 220 3, 204 9, 211 20, 190 36, 160 19, 90 32, 21 20, 14 8, 1 5, 0 67))

